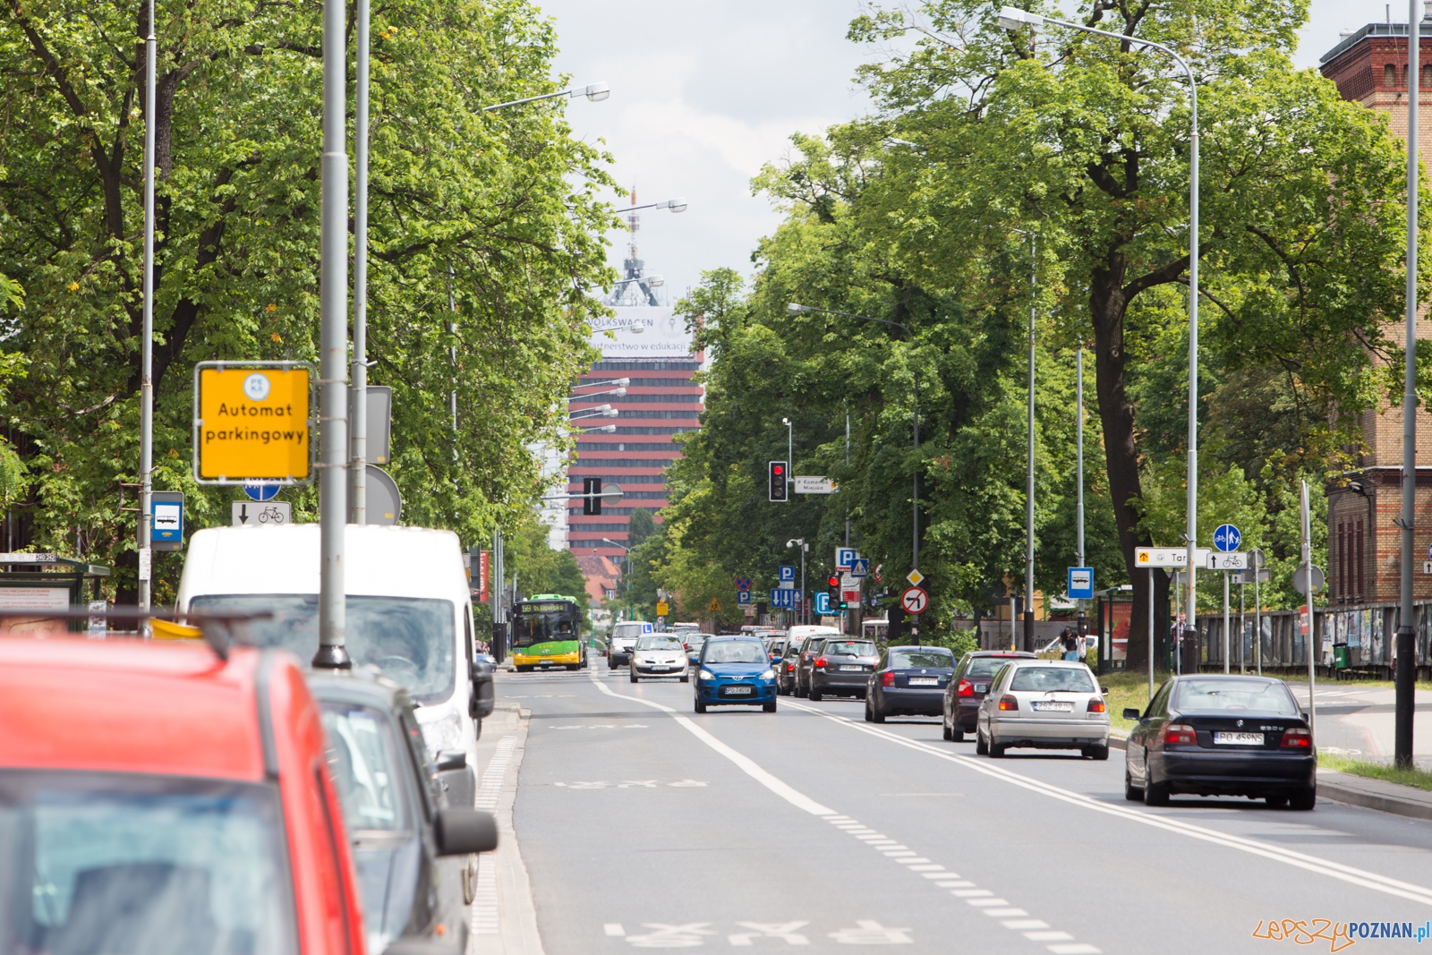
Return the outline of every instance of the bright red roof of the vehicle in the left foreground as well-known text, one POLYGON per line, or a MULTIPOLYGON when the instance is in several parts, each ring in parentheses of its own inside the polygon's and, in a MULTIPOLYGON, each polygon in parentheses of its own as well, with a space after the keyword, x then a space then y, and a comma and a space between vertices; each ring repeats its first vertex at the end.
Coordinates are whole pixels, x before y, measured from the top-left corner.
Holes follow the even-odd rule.
POLYGON ((0 637, 0 766, 262 780, 259 656, 0 637))

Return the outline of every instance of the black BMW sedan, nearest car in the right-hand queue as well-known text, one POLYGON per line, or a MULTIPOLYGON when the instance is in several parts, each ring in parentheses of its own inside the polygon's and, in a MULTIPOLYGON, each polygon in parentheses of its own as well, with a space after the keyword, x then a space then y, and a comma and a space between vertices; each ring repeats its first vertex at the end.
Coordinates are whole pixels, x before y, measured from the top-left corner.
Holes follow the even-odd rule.
POLYGON ((1176 676, 1148 710, 1124 710, 1128 735, 1124 798, 1164 806, 1173 793, 1247 796, 1269 806, 1312 809, 1317 752, 1282 680, 1176 676))

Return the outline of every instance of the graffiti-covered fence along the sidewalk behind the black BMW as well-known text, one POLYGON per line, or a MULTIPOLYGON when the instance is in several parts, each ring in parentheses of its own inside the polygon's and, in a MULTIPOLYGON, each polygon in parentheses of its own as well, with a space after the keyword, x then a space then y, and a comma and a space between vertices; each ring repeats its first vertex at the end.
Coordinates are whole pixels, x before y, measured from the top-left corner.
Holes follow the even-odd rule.
MULTIPOLYGON (((1230 616, 1229 669, 1253 670, 1259 664, 1280 672, 1307 669, 1307 637, 1302 633, 1296 610, 1263 613, 1257 643, 1254 643, 1253 614, 1230 616)), ((1317 607, 1313 611, 1313 646, 1320 669, 1333 669, 1335 647, 1345 646, 1346 672, 1365 677, 1390 679, 1393 643, 1396 643, 1399 609, 1396 604, 1370 604, 1358 609, 1317 607)), ((1416 664, 1429 661, 1428 643, 1432 633, 1432 604, 1416 606, 1416 664)), ((1206 670, 1223 669, 1223 616, 1199 620, 1199 664, 1206 670)))

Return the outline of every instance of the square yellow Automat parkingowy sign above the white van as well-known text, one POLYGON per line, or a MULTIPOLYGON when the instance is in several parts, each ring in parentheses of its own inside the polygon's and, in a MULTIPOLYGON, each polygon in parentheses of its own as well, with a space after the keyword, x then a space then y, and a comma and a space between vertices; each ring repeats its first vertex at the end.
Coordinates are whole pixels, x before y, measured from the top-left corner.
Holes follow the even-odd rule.
POLYGON ((199 362, 193 372, 193 471, 200 484, 308 481, 312 365, 199 362))

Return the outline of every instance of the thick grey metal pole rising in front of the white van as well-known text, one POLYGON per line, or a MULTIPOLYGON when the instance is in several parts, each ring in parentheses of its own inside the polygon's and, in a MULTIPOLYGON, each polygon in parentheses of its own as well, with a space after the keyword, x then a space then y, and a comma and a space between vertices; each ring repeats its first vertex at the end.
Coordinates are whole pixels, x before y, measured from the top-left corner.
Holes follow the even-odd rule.
POLYGON ((342 0, 324 0, 324 155, 319 229, 319 461, 321 566, 315 667, 348 669, 345 649, 344 537, 348 524, 348 149, 345 135, 347 42, 342 0))

